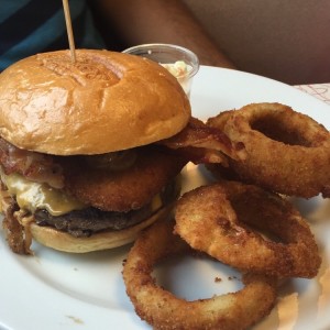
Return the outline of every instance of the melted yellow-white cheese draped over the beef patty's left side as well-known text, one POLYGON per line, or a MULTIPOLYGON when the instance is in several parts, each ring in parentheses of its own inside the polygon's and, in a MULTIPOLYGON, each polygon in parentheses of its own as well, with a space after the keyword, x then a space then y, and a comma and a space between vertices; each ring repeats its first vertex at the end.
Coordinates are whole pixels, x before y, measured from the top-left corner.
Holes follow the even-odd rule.
POLYGON ((10 175, 1 173, 1 179, 9 193, 16 197, 19 207, 32 213, 36 209, 45 209, 52 216, 61 216, 86 207, 62 190, 54 189, 46 184, 30 182, 15 173, 10 175))

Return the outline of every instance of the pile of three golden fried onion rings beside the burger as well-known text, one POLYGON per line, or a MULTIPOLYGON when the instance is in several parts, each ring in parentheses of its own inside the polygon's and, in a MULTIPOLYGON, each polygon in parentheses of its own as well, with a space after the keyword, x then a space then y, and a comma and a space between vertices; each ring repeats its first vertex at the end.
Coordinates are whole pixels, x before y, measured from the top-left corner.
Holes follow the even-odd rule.
POLYGON ((186 193, 175 222, 158 222, 142 233, 124 264, 135 311, 155 329, 246 329, 274 306, 276 279, 315 277, 321 264, 309 226, 279 194, 330 197, 329 132, 279 103, 224 111, 208 125, 243 145, 246 157, 207 165, 221 179, 186 193), (157 286, 154 264, 194 250, 243 272, 245 287, 186 301, 157 286))

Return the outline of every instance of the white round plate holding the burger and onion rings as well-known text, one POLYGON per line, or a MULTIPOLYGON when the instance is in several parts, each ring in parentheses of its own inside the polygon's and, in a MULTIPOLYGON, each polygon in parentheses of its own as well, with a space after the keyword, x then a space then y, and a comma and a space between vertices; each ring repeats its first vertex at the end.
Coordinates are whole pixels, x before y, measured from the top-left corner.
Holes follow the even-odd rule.
MULTIPOLYGON (((191 105, 201 119, 264 101, 289 105, 330 128, 330 107, 287 85, 211 67, 201 67, 194 80, 191 105)), ((200 170, 186 174, 189 185, 202 179, 200 170)), ((330 328, 330 204, 321 198, 295 202, 310 222, 323 262, 317 278, 292 279, 280 287, 277 306, 257 330, 330 328)), ((0 329, 151 329, 125 295, 121 271, 129 246, 70 255, 34 243, 35 256, 19 256, 0 234, 0 329)), ((188 299, 240 287, 232 279, 235 273, 220 263, 184 258, 167 270, 165 277, 160 275, 162 284, 188 299)))

